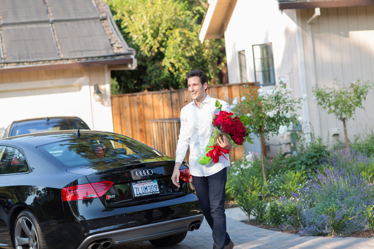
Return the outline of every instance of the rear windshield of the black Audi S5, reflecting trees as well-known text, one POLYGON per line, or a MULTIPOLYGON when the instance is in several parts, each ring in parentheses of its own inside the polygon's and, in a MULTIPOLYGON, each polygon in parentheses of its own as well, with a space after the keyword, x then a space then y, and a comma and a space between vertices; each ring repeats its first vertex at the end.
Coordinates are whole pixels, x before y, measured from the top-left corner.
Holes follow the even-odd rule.
POLYGON ((44 150, 52 160, 58 160, 66 166, 134 160, 162 155, 145 144, 121 135, 73 138, 39 146, 38 149, 44 150))

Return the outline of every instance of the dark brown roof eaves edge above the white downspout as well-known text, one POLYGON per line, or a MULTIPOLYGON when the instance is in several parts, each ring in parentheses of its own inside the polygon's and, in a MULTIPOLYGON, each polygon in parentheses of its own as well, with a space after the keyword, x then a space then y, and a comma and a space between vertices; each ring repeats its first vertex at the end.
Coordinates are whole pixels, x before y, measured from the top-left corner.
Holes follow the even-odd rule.
POLYGON ((279 9, 313 9, 374 5, 374 0, 278 0, 279 9))

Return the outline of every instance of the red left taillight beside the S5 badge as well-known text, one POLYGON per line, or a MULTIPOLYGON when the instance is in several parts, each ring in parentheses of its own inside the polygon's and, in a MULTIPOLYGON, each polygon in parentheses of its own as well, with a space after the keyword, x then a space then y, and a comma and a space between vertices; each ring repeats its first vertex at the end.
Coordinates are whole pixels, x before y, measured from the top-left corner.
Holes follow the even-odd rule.
POLYGON ((87 183, 61 189, 62 201, 99 198, 113 186, 111 181, 87 183))

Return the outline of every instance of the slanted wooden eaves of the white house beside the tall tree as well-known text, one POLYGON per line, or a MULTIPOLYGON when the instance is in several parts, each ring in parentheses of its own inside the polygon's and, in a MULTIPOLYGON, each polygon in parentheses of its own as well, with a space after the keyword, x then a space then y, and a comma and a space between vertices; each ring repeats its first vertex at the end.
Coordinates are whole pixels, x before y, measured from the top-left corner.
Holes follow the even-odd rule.
POLYGON ((224 37, 224 32, 236 2, 237 0, 208 0, 209 6, 199 33, 201 42, 205 39, 220 39, 224 37))

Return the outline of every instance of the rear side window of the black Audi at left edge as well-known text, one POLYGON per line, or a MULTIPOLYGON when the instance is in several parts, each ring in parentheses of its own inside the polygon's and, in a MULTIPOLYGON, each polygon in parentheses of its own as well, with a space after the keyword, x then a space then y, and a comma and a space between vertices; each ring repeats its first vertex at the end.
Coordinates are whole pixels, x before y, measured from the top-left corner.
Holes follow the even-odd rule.
POLYGON ((0 174, 15 174, 28 171, 28 166, 21 150, 0 146, 0 174))

